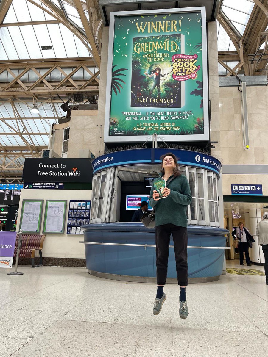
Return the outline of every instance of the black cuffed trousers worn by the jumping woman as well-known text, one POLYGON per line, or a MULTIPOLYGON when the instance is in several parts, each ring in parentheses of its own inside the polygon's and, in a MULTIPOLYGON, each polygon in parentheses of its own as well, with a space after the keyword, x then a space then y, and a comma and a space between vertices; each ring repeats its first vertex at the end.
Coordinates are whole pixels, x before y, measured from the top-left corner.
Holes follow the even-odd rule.
POLYGON ((170 235, 174 241, 174 252, 178 285, 188 285, 187 228, 172 223, 155 227, 157 285, 165 285, 168 274, 168 253, 170 235))

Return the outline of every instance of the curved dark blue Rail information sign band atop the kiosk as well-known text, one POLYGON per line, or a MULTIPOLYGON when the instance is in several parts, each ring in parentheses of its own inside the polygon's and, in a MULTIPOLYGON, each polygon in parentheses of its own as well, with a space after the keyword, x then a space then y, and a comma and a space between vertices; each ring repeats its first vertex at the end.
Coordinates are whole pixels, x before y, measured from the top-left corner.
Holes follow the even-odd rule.
POLYGON ((167 152, 172 152, 179 157, 180 165, 199 167, 213 171, 219 176, 222 165, 213 156, 197 151, 161 148, 123 150, 99 156, 92 163, 93 174, 113 166, 157 164, 160 162, 160 157, 167 152))

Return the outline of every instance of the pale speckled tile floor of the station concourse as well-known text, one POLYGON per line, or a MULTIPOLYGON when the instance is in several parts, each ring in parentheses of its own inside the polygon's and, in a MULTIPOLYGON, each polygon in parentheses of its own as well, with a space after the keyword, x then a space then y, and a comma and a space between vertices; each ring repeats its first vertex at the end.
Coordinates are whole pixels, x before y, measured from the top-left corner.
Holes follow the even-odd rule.
MULTIPOLYGON (((227 267, 242 268, 238 261, 227 267)), ((263 267, 253 266, 264 270, 263 267)), ((247 266, 245 266, 247 268, 247 266)), ((0 270, 1 357, 267 357, 268 285, 264 276, 229 275, 187 287, 156 287, 90 276, 84 268, 20 266, 0 270)))

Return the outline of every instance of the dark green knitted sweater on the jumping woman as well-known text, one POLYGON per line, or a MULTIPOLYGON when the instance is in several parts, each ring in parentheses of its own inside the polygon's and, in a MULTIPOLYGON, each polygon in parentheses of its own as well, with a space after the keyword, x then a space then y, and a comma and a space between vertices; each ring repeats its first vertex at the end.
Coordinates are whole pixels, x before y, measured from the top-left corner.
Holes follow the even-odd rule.
MULTIPOLYGON (((189 182, 184 175, 173 178, 170 182, 170 176, 167 180, 167 187, 170 194, 167 198, 160 198, 159 201, 153 199, 154 185, 152 185, 149 203, 155 207, 155 225, 160 226, 167 223, 173 223, 176 226, 187 227, 187 206, 192 202, 189 182)), ((155 181, 161 178, 155 178, 155 181)))

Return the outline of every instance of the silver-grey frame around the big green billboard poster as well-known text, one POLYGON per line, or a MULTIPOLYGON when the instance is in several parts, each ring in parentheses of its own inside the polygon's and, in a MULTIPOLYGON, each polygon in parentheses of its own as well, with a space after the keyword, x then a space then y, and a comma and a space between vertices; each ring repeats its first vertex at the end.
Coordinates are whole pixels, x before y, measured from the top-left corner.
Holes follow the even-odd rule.
POLYGON ((208 93, 208 53, 207 53, 207 18, 205 6, 182 7, 179 9, 157 9, 157 10, 139 10, 139 11, 115 11, 110 13, 109 24, 109 42, 108 42, 108 66, 107 66, 107 84, 105 100, 105 121, 104 121, 104 142, 144 142, 153 141, 150 135, 109 135, 109 122, 111 110, 111 77, 113 66, 113 44, 114 44, 114 25, 115 16, 133 16, 150 15, 160 13, 179 13, 179 12, 201 12, 202 23, 202 71, 203 71, 203 113, 204 113, 204 134, 197 135, 158 135, 163 141, 208 141, 209 140, 209 93, 208 93))

